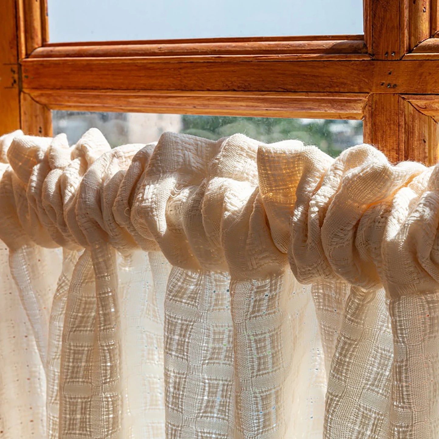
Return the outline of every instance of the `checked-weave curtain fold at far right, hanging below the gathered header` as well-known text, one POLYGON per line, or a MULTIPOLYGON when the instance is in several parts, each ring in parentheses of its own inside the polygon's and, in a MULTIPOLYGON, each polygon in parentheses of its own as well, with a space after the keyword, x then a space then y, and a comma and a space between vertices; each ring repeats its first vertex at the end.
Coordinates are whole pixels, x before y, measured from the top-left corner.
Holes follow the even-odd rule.
POLYGON ((390 300, 394 361, 390 431, 439 436, 439 291, 390 300))

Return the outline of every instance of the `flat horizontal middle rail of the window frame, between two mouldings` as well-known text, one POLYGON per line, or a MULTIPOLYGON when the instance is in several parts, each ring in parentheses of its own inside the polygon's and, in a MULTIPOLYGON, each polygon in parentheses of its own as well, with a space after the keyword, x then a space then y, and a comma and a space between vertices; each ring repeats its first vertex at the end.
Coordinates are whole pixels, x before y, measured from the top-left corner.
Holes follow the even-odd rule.
POLYGON ((32 58, 24 90, 439 93, 439 61, 151 61, 32 58))

